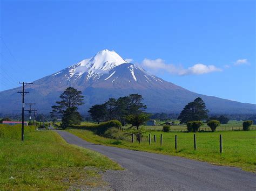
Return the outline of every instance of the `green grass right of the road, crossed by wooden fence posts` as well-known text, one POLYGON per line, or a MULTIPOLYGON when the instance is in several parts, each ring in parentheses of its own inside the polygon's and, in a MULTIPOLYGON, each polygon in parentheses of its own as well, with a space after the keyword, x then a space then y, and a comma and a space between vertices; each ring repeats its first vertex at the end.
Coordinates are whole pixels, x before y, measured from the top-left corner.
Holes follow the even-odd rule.
MULTIPOLYGON (((186 157, 207 161, 215 165, 241 167, 245 171, 256 172, 256 131, 219 131, 197 133, 197 150, 194 151, 193 134, 185 132, 149 131, 144 134, 143 141, 131 143, 131 136, 126 140, 109 139, 95 135, 89 130, 66 130, 74 135, 96 144, 129 148, 161 154, 186 157), (151 133, 151 145, 148 135, 151 133), (160 146, 160 134, 163 134, 163 145, 160 146), (219 135, 223 135, 223 153, 219 153, 219 135), (153 135, 157 136, 154 143, 153 135), (178 149, 174 148, 174 136, 178 136, 178 149)), ((125 131, 124 131, 125 132, 125 131)))

